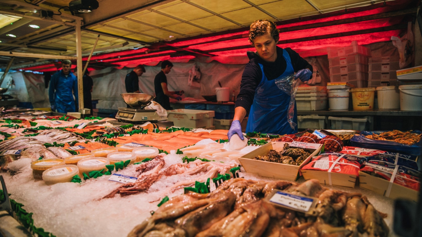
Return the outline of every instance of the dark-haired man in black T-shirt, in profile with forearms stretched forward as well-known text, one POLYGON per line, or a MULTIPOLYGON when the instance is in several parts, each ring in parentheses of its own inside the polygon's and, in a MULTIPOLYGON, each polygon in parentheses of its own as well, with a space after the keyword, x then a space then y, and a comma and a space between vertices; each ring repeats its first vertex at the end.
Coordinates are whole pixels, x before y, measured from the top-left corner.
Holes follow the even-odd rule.
POLYGON ((181 100, 181 95, 183 91, 170 92, 167 87, 167 77, 165 74, 170 73, 173 63, 168 60, 164 60, 161 63, 161 71, 155 76, 154 79, 154 89, 155 89, 155 99, 154 101, 159 103, 166 110, 172 110, 170 106, 170 99, 172 97, 176 100, 181 100))

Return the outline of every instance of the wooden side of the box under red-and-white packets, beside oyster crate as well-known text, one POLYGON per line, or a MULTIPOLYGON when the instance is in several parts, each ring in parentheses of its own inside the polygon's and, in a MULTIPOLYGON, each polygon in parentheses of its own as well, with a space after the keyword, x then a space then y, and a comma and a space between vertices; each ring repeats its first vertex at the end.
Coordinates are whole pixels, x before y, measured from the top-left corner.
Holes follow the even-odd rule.
MULTIPOLYGON (((300 170, 302 172, 303 178, 308 179, 317 179, 319 183, 324 185, 329 185, 328 172, 322 170, 300 170)), ((354 188, 356 183, 357 175, 349 175, 331 172, 331 184, 333 186, 341 186, 347 188, 354 188)))

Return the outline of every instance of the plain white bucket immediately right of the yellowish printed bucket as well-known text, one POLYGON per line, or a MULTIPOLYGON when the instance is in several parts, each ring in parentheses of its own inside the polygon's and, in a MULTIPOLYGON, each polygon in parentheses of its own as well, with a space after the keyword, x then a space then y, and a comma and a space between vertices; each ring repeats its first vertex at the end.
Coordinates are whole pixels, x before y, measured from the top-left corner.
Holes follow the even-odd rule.
POLYGON ((378 108, 392 110, 400 108, 400 93, 397 86, 378 86, 378 108))

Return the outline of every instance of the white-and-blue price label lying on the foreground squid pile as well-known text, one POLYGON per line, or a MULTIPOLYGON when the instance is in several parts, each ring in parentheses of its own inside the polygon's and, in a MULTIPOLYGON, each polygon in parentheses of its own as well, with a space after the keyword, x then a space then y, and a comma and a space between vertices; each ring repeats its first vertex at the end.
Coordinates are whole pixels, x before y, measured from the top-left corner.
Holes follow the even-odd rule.
POLYGON ((277 191, 269 201, 299 212, 308 212, 314 199, 277 191))

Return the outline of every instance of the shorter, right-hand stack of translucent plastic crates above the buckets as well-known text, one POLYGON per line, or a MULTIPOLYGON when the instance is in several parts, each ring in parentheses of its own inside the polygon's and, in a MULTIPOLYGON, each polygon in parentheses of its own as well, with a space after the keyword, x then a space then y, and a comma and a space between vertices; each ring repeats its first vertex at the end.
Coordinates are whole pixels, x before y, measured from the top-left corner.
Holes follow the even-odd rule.
POLYGON ((369 58, 368 86, 398 86, 399 57, 369 58))

